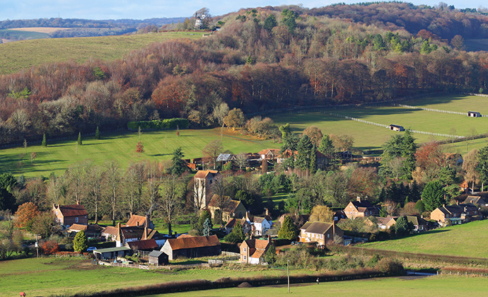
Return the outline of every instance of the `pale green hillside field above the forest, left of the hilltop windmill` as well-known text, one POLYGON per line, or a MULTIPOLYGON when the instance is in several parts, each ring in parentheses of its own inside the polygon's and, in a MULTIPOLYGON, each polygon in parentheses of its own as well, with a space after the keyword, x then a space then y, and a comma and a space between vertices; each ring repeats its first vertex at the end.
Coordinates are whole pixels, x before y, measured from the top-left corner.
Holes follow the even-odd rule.
MULTIPOLYGON (((15 32, 15 31, 14 31, 15 32)), ((18 31, 20 32, 20 31, 18 31)), ((48 38, 23 40, 0 44, 0 74, 11 74, 21 69, 46 63, 90 59, 115 60, 154 42, 177 38, 201 38, 200 33, 148 33, 103 37, 48 38)))

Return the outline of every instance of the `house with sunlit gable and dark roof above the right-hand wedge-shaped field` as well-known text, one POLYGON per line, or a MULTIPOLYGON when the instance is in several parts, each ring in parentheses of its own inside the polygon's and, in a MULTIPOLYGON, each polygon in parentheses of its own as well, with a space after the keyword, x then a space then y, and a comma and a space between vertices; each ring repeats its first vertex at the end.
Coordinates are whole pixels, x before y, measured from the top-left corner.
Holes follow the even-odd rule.
POLYGON ((431 219, 441 225, 451 221, 454 224, 465 223, 479 218, 479 209, 475 204, 463 203, 455 205, 443 205, 431 212, 431 219))

